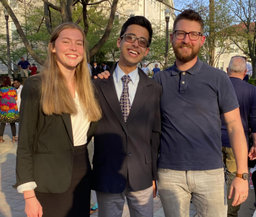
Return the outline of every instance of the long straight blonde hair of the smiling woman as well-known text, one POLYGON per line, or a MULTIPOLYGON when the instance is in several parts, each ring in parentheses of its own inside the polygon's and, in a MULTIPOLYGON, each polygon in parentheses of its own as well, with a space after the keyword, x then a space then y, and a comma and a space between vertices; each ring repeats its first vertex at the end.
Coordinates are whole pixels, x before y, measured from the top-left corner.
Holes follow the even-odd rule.
POLYGON ((62 23, 52 32, 50 44, 48 46, 48 57, 41 73, 41 105, 46 115, 63 113, 76 114, 77 108, 66 85, 66 78, 62 74, 55 55, 52 53, 56 39, 64 29, 78 29, 84 37, 84 58, 75 69, 75 87, 80 101, 84 108, 85 115, 89 121, 95 122, 101 118, 101 110, 95 98, 94 85, 91 81, 87 65, 88 49, 85 34, 82 28, 75 23, 62 23))

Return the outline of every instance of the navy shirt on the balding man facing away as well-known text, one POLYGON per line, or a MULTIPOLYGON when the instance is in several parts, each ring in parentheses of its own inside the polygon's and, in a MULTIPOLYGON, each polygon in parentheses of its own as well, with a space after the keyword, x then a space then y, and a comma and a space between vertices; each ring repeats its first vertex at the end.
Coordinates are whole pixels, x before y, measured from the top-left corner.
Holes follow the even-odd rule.
MULTIPOLYGON (((230 81, 235 89, 239 110, 245 131, 247 146, 249 140, 249 127, 252 132, 256 132, 256 87, 243 81, 240 78, 230 77, 230 81)), ((222 117, 222 146, 231 148, 227 128, 222 117)))

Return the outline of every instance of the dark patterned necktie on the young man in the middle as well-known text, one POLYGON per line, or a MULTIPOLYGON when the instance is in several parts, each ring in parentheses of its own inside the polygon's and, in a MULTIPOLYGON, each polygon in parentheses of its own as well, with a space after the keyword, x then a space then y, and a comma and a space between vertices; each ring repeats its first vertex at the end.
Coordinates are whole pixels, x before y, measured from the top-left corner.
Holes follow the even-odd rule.
POLYGON ((129 75, 124 75, 122 78, 123 81, 123 92, 120 97, 120 106, 123 113, 124 122, 130 113, 131 101, 129 99, 129 86, 128 83, 132 80, 129 75))

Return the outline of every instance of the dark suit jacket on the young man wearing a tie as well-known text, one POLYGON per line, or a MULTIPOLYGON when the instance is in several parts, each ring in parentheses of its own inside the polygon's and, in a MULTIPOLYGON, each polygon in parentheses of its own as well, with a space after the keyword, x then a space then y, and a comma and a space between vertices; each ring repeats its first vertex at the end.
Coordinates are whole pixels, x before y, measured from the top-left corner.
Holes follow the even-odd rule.
POLYGON ((108 79, 96 79, 102 119, 94 137, 92 189, 118 194, 129 174, 132 191, 144 190, 157 180, 160 143, 161 86, 138 69, 139 82, 126 123, 114 87, 113 71, 108 79))

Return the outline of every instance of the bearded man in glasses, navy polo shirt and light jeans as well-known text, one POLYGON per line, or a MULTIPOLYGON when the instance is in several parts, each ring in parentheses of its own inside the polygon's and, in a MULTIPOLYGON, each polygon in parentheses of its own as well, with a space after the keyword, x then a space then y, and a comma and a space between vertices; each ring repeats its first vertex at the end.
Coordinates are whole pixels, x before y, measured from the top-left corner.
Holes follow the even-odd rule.
POLYGON ((182 11, 171 33, 176 62, 154 75, 162 85, 158 190, 166 217, 189 216, 191 198, 199 216, 227 217, 222 114, 237 163, 232 206, 248 196, 247 141, 239 105, 225 71, 197 57, 205 41, 203 29, 198 13, 182 11))

